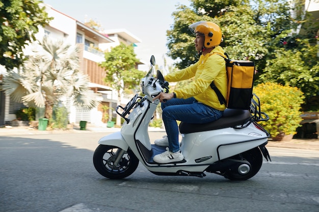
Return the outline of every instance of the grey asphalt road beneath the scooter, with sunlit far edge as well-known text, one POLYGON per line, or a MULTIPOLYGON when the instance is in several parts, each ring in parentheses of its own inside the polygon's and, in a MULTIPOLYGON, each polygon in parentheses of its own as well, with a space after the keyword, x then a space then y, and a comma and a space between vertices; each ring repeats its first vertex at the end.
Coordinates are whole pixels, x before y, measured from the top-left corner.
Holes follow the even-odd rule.
POLYGON ((0 137, 0 212, 319 211, 318 150, 269 147, 272 162, 246 181, 157 176, 141 165, 110 180, 92 163, 103 135, 0 137))

